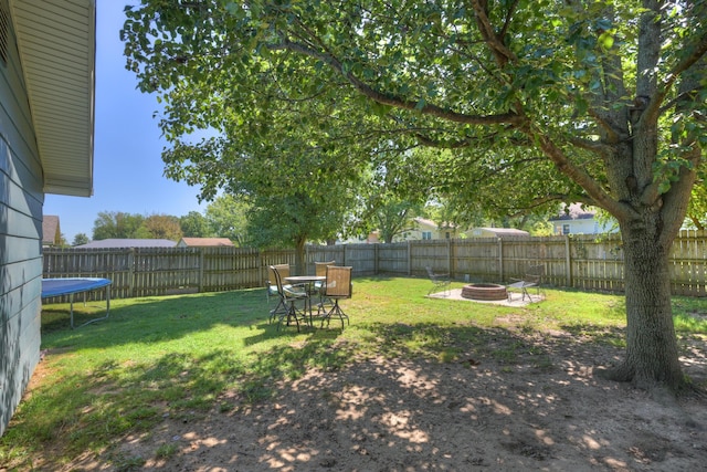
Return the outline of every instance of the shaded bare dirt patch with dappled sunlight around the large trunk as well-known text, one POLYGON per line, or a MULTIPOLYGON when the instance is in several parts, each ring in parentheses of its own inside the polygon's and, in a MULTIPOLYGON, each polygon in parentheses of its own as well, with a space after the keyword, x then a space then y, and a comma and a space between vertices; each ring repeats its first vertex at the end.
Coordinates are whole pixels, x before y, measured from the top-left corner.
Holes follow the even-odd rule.
MULTIPOLYGON (((705 343, 685 343, 686 374, 705 385, 705 343)), ((666 400, 595 375, 621 355, 564 333, 492 335, 450 363, 356 359, 279 382, 265 402, 228 392, 205 416, 166 416, 55 470, 701 470, 705 397, 666 400)))

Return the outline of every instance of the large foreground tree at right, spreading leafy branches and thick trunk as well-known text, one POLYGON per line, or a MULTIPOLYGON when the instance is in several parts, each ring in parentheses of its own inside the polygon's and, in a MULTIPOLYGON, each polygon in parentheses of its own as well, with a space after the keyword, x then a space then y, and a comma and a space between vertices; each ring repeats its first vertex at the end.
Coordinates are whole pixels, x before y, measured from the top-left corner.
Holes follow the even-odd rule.
POLYGON ((144 0, 123 34, 175 147, 208 127, 239 143, 196 166, 168 153, 172 176, 218 182, 233 161, 217 156, 295 136, 328 143, 344 180, 376 151, 394 169, 425 146, 450 153, 415 175, 460 201, 602 208, 625 259, 626 356, 610 376, 678 388, 667 254, 704 166, 706 13, 701 0, 144 0))

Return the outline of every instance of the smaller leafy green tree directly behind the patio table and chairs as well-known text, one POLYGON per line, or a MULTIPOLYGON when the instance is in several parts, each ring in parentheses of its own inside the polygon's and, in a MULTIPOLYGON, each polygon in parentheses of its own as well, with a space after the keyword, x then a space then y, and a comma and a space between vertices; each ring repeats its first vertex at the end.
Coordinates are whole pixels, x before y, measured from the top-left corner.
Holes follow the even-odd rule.
MULTIPOLYGON (((260 102, 263 97, 256 98, 254 109, 271 113, 267 103, 260 102)), ((323 115, 321 108, 329 107, 317 102, 293 103, 282 112, 285 119, 250 130, 240 119, 226 123, 224 117, 234 117, 232 106, 232 102, 218 101, 204 112, 208 119, 218 119, 221 135, 199 143, 175 138, 173 147, 162 155, 166 172, 200 185, 201 198, 211 199, 222 191, 214 203, 230 199, 218 212, 213 203, 207 209, 217 234, 235 224, 229 212, 242 204, 238 213, 247 218, 247 234, 242 218, 238 240, 256 247, 294 248, 296 270, 303 271, 305 243, 335 239, 360 204, 358 193, 370 175, 367 156, 374 153, 372 143, 358 136, 355 144, 340 146, 344 138, 333 136, 327 127, 312 126, 309 118, 303 123, 303 116, 323 115)), ((167 120, 162 125, 166 129, 171 126, 167 120)))

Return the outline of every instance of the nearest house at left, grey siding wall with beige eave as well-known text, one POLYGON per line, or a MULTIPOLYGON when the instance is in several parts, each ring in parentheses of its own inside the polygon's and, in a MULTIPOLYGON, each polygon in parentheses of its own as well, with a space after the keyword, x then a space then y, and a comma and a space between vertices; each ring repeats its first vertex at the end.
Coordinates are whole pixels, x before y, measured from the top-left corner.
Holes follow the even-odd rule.
POLYGON ((0 0, 0 434, 40 360, 46 193, 93 195, 94 0, 0 0))

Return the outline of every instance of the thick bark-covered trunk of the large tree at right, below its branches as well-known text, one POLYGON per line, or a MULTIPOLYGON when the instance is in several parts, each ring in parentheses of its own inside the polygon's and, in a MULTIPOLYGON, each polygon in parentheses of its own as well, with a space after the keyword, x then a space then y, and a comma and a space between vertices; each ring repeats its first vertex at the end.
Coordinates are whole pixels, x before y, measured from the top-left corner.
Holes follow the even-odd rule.
POLYGON ((643 389, 663 385, 676 391, 684 377, 671 307, 668 250, 644 224, 622 225, 625 256, 626 357, 609 378, 643 389))

